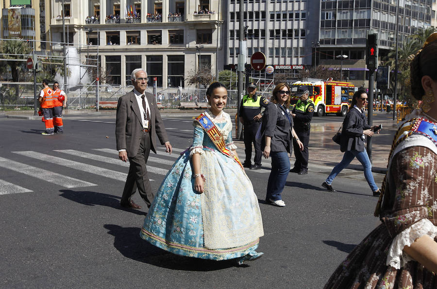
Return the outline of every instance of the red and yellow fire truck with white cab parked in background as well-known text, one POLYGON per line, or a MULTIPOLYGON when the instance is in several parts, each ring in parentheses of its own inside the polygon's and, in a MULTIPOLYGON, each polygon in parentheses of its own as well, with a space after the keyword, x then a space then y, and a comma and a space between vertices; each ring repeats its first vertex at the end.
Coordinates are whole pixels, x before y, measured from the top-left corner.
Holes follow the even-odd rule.
POLYGON ((309 97, 313 100, 316 115, 319 117, 327 113, 336 113, 343 117, 349 109, 353 93, 358 90, 352 83, 332 81, 332 79, 307 79, 291 85, 291 103, 295 105, 298 97, 295 96, 299 87, 308 88, 309 97))

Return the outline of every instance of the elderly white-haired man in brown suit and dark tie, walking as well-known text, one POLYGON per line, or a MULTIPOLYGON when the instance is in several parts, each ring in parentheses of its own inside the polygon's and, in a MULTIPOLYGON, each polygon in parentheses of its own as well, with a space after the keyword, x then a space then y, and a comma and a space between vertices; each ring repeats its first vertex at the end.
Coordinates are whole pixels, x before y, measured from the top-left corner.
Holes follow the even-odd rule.
POLYGON ((171 145, 158 111, 153 95, 145 92, 147 73, 142 68, 132 71, 134 90, 121 96, 117 104, 116 138, 118 157, 122 161, 129 159, 129 173, 124 185, 120 204, 122 207, 141 209, 131 197, 138 188, 141 198, 150 207, 152 193, 146 163, 150 150, 156 153, 155 134, 166 151, 171 153, 171 145))

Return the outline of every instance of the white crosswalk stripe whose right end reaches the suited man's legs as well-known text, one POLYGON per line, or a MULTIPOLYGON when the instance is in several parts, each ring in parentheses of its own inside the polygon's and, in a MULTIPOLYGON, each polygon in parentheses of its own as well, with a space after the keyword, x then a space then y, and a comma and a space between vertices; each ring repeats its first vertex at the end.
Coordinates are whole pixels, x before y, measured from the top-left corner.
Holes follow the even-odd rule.
POLYGON ((13 153, 17 153, 17 154, 28 156, 28 157, 32 157, 32 158, 36 158, 36 159, 39 159, 39 160, 43 160, 45 162, 49 162, 49 163, 52 163, 52 164, 68 167, 68 168, 75 169, 75 170, 86 171, 86 172, 89 172, 89 173, 97 174, 97 175, 100 175, 100 176, 103 176, 103 177, 107 177, 107 178, 111 178, 111 179, 118 180, 118 181, 123 181, 124 182, 124 181, 126 181, 126 177, 127 177, 127 173, 123 173, 123 172, 119 172, 119 171, 115 171, 115 170, 107 170, 107 169, 103 169, 103 168, 100 168, 100 167, 96 167, 96 166, 87 165, 87 164, 80 163, 80 162, 75 162, 75 161, 67 160, 65 158, 60 158, 60 157, 57 157, 57 156, 52 156, 52 155, 49 155, 49 154, 37 153, 37 152, 33 152, 33 151, 13 152, 13 153))

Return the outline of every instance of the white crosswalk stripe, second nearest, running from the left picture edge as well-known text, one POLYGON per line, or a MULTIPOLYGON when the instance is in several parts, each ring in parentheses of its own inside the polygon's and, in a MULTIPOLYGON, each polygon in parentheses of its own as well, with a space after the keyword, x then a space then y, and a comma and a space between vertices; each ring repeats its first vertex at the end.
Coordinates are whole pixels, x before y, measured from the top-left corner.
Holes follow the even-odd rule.
POLYGON ((43 170, 40 168, 35 168, 26 164, 22 164, 7 158, 0 157, 0 167, 8 169, 8 170, 14 170, 21 174, 25 174, 49 183, 53 183, 56 185, 59 185, 61 187, 92 187, 97 186, 93 183, 88 183, 82 180, 78 180, 75 178, 71 178, 68 176, 64 176, 59 173, 52 172, 50 170, 43 170))

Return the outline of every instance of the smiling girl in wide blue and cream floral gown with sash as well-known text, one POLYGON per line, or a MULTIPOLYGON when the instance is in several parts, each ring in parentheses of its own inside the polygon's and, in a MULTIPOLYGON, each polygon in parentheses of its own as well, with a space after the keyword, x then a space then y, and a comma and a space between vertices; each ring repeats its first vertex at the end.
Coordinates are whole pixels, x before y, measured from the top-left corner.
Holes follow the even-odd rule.
POLYGON ((140 236, 177 255, 242 264, 262 255, 261 212, 223 111, 226 87, 215 82, 206 95, 211 107, 194 121, 193 144, 162 182, 140 236))

